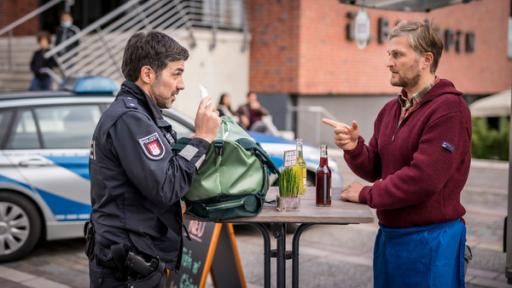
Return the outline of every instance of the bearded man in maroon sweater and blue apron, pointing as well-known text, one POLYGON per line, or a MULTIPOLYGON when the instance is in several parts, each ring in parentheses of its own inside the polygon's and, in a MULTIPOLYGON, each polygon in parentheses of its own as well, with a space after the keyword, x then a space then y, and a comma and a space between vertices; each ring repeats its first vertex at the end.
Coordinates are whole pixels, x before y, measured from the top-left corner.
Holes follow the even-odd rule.
POLYGON ((377 209, 375 287, 463 287, 471 116, 462 93, 435 76, 443 44, 431 24, 401 22, 388 42, 391 85, 402 87, 375 120, 368 144, 355 121, 329 119, 352 171, 346 201, 377 209), (443 275, 446 274, 446 275, 443 275))

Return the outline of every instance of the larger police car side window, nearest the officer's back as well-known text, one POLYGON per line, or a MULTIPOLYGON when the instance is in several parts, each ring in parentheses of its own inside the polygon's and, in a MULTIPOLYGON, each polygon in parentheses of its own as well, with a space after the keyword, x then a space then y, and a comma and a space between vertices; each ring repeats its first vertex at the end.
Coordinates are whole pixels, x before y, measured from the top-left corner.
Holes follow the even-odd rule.
POLYGON ((98 105, 36 108, 44 148, 89 148, 101 111, 98 105))

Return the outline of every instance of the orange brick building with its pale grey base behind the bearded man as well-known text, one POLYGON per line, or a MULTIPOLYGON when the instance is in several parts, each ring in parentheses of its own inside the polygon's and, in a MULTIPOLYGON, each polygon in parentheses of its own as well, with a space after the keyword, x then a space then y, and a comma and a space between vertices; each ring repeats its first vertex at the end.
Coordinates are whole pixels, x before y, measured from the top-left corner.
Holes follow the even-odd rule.
POLYGON ((389 84, 385 43, 399 20, 428 18, 440 27, 446 47, 436 74, 471 100, 511 86, 511 2, 473 1, 430 13, 367 9, 370 39, 359 49, 350 35, 359 7, 337 0, 251 0, 250 88, 274 109, 281 129, 325 142, 332 132, 319 118, 330 113, 358 121, 368 139, 377 112, 399 92, 389 84))

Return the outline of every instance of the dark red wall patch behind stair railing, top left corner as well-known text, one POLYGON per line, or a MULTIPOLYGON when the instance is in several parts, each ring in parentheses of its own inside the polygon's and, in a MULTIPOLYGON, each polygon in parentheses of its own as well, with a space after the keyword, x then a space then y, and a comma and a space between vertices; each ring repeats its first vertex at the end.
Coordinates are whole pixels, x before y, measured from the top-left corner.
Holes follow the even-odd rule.
MULTIPOLYGON (((39 7, 38 0, 0 0, 0 29, 37 9, 37 7, 39 7)), ((35 35, 38 31, 39 17, 36 16, 14 29, 13 35, 35 35)))

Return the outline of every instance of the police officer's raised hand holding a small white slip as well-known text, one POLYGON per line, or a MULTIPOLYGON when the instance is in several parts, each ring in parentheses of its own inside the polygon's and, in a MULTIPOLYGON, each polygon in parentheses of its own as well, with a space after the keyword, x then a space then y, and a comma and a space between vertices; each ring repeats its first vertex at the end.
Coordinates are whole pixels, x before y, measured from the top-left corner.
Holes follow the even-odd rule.
POLYGON ((220 126, 220 117, 217 109, 212 105, 212 98, 205 97, 199 103, 196 113, 196 134, 195 137, 202 138, 211 143, 217 135, 220 126))

